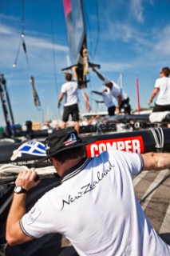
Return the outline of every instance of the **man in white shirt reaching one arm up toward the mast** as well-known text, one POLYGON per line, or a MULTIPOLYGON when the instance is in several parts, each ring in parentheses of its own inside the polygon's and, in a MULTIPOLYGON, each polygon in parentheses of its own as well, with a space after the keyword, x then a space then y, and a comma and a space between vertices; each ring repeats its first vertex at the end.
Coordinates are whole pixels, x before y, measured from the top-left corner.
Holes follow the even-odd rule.
POLYGON ((113 95, 117 100, 116 113, 130 114, 131 106, 129 105, 128 94, 117 85, 116 82, 106 79, 102 74, 100 74, 95 68, 93 71, 97 74, 97 77, 104 82, 110 94, 113 95))

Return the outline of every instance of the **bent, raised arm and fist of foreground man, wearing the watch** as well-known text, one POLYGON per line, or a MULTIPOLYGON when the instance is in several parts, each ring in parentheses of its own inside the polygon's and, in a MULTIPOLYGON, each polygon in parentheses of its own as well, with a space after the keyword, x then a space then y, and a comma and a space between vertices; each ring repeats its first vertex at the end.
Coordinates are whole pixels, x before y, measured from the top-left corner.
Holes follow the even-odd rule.
MULTIPOLYGON (((32 170, 20 172, 15 181, 15 185, 22 186, 28 191, 32 187, 37 186, 40 182, 35 182, 36 175, 37 173, 32 170)), ((32 240, 32 238, 22 232, 19 224, 24 214, 26 214, 26 194, 14 193, 14 198, 6 222, 6 241, 11 246, 32 240)))

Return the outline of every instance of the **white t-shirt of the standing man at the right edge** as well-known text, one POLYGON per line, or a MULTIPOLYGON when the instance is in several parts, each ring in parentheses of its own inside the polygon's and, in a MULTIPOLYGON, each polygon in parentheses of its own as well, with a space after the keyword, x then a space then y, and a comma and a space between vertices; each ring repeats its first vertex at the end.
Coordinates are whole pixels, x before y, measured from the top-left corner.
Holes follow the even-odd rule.
POLYGON ((156 104, 170 105, 170 78, 157 78, 155 88, 160 89, 156 104))

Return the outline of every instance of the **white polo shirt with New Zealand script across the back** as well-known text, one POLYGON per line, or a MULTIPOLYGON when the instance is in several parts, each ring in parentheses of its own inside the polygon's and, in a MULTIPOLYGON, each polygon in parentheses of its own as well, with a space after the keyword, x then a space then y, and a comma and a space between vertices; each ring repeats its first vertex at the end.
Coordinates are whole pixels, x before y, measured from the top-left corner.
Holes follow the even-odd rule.
POLYGON ((169 255, 134 194, 142 166, 139 154, 120 150, 83 159, 23 216, 23 232, 64 234, 80 256, 169 255))

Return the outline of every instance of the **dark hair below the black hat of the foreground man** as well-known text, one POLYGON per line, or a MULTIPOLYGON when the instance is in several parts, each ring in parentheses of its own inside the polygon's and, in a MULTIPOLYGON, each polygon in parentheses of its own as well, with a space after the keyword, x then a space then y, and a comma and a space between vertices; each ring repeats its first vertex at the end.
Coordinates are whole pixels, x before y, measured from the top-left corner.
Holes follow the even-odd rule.
POLYGON ((62 151, 53 156, 57 161, 64 163, 66 160, 76 159, 77 157, 85 157, 85 146, 78 146, 71 150, 62 151))

